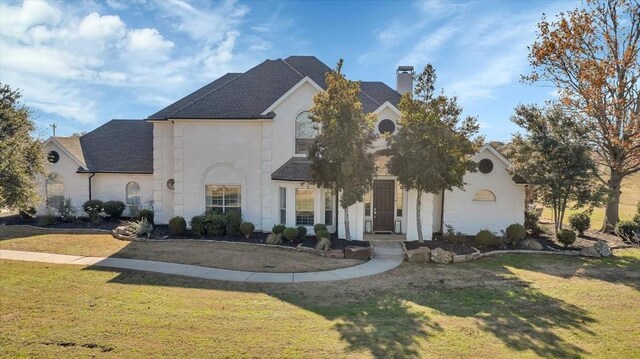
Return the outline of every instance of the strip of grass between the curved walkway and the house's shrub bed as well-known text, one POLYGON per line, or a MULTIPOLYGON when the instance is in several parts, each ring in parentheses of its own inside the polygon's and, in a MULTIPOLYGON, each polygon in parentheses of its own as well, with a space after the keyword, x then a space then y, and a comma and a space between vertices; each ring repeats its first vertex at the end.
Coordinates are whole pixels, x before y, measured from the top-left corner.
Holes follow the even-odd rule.
POLYGON ((51 234, 46 229, 24 226, 0 227, 0 249, 147 259, 259 272, 312 272, 362 263, 358 259, 322 258, 264 246, 192 240, 127 242, 110 234, 51 234))

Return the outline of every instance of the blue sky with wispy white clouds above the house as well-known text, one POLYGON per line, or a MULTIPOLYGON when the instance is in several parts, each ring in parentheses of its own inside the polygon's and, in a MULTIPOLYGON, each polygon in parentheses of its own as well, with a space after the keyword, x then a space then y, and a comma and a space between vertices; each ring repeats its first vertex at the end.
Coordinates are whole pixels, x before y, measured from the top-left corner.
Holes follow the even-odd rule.
POLYGON ((508 140, 519 103, 554 89, 520 82, 542 13, 574 1, 0 1, 0 82, 20 88, 38 134, 145 118, 267 58, 345 60, 354 80, 395 88, 398 65, 434 65, 437 87, 508 140))

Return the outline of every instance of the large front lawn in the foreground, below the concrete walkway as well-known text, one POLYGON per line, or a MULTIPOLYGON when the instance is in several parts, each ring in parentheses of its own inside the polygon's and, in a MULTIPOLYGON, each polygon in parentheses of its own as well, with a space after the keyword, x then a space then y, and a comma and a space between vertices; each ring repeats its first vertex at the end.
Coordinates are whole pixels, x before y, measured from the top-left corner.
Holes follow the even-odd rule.
POLYGON ((640 357, 640 249, 255 285, 0 261, 3 357, 640 357))

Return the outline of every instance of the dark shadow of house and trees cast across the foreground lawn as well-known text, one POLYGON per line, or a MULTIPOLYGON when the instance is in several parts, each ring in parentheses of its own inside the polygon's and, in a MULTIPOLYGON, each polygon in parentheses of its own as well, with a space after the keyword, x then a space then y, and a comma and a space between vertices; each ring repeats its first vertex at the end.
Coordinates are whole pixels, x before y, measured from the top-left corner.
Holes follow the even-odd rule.
POLYGON ((508 265, 493 262, 496 264, 490 270, 473 264, 405 264, 374 277, 300 284, 231 283, 101 267, 87 269, 119 272, 110 280, 113 283, 268 294, 335 322, 334 328, 349 351, 366 350, 375 358, 421 357, 430 351, 432 340, 436 345, 434 337, 449 335, 447 330, 452 337, 444 339, 449 342, 446 345, 452 339, 454 343, 466 340, 468 328, 458 328, 454 323, 445 329, 451 317, 472 319, 478 330, 491 333, 515 351, 532 351, 543 357, 589 354, 556 332, 565 329, 594 335, 588 327, 595 319, 586 310, 541 293, 517 279, 508 265), (463 280, 451 285, 452 272, 463 280), (469 279, 466 284, 465 278, 469 279))

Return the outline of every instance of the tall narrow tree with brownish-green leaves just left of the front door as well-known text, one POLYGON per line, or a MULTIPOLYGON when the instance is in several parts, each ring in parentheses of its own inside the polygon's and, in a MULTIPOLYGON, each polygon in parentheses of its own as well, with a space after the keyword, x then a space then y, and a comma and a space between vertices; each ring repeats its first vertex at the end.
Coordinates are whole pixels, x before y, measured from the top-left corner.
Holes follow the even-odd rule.
POLYGON ((360 103, 360 84, 342 74, 342 59, 326 75, 327 90, 313 98, 311 119, 319 134, 309 149, 311 177, 316 185, 341 193, 346 239, 349 206, 363 200, 371 188, 376 166, 370 149, 375 139, 375 116, 365 115, 360 103))

